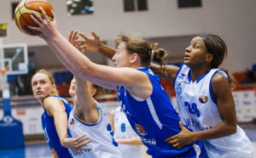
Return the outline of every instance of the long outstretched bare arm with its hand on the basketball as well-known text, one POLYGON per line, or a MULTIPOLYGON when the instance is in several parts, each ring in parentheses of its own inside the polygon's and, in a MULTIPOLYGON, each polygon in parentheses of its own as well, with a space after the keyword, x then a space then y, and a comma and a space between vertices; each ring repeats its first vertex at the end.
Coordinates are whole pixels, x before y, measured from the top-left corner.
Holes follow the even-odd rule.
MULTIPOLYGON (((33 12, 32 20, 39 27, 31 27, 32 30, 41 31, 44 33, 43 39, 49 44, 49 47, 54 51, 56 56, 67 67, 67 69, 75 76, 96 83, 99 86, 115 89, 117 85, 132 87, 137 90, 144 90, 150 82, 148 76, 142 71, 137 71, 133 68, 113 68, 105 65, 96 65, 90 59, 81 54, 79 50, 65 39, 57 30, 55 14, 53 21, 50 21, 40 8, 44 19, 33 12), (96 82, 97 81, 97 82, 96 82), (143 83, 143 84, 142 84, 143 83), (112 85, 112 87, 110 87, 112 85)), ((138 96, 144 98, 143 96, 138 96)))

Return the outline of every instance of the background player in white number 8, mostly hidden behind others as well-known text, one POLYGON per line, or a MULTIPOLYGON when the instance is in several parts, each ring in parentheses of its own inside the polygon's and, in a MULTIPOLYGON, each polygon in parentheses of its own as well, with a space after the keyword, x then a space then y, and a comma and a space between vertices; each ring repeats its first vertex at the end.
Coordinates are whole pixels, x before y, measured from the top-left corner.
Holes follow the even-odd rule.
POLYGON ((119 144, 123 158, 143 158, 142 140, 133 131, 122 108, 111 110, 109 117, 113 138, 119 144))

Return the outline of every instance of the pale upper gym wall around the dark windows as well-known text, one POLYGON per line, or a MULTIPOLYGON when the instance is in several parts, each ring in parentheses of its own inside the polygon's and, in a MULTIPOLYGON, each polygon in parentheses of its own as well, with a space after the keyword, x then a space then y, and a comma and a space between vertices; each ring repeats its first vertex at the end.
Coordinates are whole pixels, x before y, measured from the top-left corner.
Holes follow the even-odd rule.
MULTIPOLYGON (((38 37, 20 32, 12 20, 11 3, 1 1, 0 23, 9 23, 9 38, 3 44, 26 42, 28 46, 45 45, 38 37)), ((64 37, 71 29, 90 35, 93 29, 102 40, 112 40, 120 32, 141 32, 147 37, 177 37, 201 32, 224 38, 229 57, 224 67, 245 71, 256 63, 256 1, 202 0, 202 8, 177 8, 177 0, 148 0, 148 11, 125 13, 122 0, 95 0, 95 11, 89 15, 67 17, 65 0, 49 0, 55 8, 58 27, 64 37)), ((183 52, 184 53, 184 52, 183 52)), ((181 53, 181 54, 183 54, 181 53)))

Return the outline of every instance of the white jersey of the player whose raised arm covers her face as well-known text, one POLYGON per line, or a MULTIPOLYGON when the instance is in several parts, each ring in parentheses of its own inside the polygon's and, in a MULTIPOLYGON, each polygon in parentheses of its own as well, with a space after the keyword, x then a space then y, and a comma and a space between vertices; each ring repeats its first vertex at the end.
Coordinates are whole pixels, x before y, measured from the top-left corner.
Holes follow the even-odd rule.
POLYGON ((68 120, 68 129, 72 138, 78 138, 85 134, 91 142, 86 144, 86 147, 92 148, 92 150, 80 150, 81 155, 70 150, 73 157, 90 157, 90 158, 121 158, 121 153, 118 148, 118 144, 113 139, 113 131, 107 120, 107 117, 103 114, 100 104, 96 102, 98 111, 100 113, 99 121, 90 124, 79 120, 74 116, 73 111, 70 112, 68 120))

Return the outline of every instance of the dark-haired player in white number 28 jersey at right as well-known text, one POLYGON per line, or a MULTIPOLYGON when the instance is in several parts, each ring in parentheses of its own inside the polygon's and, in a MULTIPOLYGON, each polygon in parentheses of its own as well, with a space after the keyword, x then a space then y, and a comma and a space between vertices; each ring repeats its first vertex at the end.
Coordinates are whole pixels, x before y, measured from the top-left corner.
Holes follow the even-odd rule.
MULTIPOLYGON (((94 38, 86 37, 84 42, 86 51, 94 49, 111 58, 114 50, 100 43, 94 31, 91 33, 94 38)), ((255 156, 253 144, 236 124, 230 91, 230 84, 234 85, 235 81, 218 69, 226 54, 226 45, 220 37, 205 34, 191 41, 180 69, 166 65, 169 73, 165 75, 160 72, 160 66, 151 64, 155 73, 174 82, 183 131, 166 139, 173 147, 181 149, 193 141, 204 140, 209 157, 255 156)))

